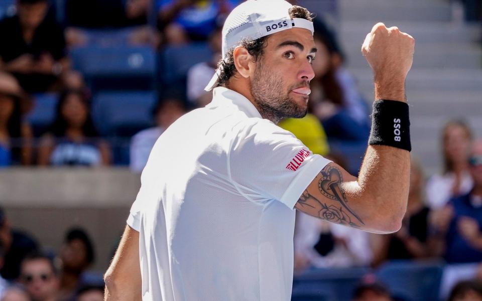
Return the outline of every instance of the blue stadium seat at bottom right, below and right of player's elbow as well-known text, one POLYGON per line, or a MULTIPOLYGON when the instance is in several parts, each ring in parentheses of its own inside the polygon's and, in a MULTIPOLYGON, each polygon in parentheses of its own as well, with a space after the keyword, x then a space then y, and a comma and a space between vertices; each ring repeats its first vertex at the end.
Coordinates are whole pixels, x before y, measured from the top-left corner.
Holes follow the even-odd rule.
POLYGON ((443 263, 394 260, 381 266, 376 275, 395 296, 411 301, 437 300, 443 263))

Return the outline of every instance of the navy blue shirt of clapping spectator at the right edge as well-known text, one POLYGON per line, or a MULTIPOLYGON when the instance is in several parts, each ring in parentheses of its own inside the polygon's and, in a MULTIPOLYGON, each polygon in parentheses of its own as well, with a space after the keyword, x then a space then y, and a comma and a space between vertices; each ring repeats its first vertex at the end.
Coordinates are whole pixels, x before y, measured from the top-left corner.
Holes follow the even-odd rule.
POLYGON ((457 223, 463 216, 471 217, 482 231, 482 202, 469 194, 452 198, 449 202, 454 216, 447 232, 445 260, 448 263, 468 263, 482 261, 482 251, 474 249, 458 232, 457 223))

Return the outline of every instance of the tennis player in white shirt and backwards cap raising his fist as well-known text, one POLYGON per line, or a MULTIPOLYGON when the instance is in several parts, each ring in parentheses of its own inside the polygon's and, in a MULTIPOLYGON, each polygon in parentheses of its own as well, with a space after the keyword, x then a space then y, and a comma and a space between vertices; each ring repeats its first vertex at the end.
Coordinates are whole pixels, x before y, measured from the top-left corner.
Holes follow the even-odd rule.
POLYGON ((414 39, 381 23, 366 37, 376 100, 355 178, 276 125, 306 114, 316 56, 310 13, 284 0, 248 0, 222 35, 222 60, 206 87, 212 102, 154 145, 105 274, 106 300, 287 301, 295 208, 375 233, 401 227, 414 39))

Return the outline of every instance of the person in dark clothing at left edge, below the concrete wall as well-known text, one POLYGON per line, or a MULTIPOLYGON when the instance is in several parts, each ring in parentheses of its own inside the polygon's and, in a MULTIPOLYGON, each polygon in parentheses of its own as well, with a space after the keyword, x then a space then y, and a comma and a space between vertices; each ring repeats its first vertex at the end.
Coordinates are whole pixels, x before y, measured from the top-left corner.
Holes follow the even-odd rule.
POLYGON ((3 278, 13 281, 19 277, 20 263, 24 257, 39 249, 37 242, 29 235, 12 230, 10 221, 0 208, 0 242, 4 246, 4 265, 0 268, 3 278))

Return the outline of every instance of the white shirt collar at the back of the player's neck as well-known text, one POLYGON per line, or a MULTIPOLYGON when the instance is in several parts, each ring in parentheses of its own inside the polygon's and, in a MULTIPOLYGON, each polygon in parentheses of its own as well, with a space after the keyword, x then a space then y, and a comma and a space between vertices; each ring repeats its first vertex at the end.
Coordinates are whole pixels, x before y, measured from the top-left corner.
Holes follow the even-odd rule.
POLYGON ((226 105, 236 106, 248 117, 263 118, 255 105, 245 96, 224 87, 216 87, 212 91, 212 101, 208 108, 222 107, 226 105))

